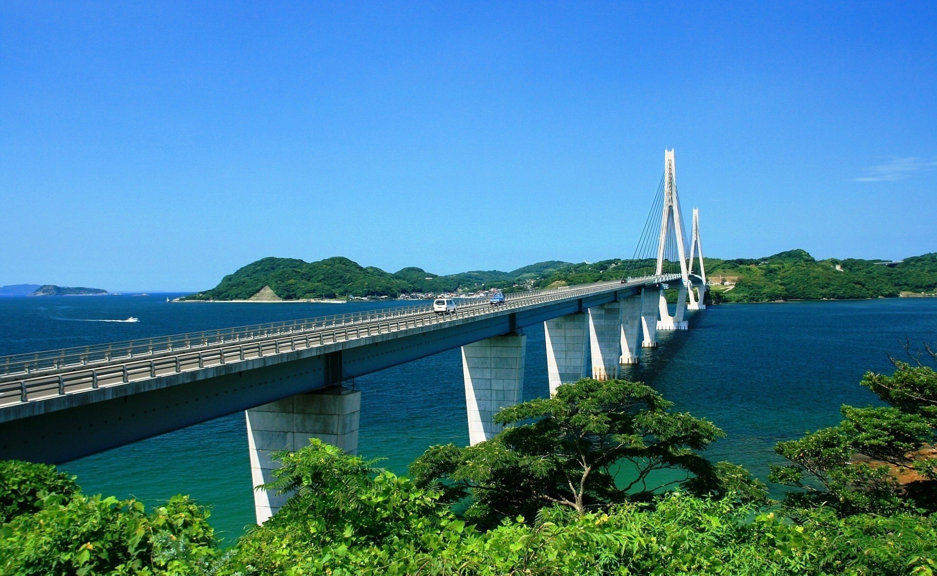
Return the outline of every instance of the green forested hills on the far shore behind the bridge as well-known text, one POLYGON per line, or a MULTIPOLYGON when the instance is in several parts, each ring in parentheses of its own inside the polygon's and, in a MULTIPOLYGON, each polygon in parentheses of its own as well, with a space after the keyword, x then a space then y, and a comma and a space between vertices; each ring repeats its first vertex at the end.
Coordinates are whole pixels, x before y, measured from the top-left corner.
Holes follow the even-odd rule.
MULTIPOLYGON (((615 280, 648 273, 652 260, 613 258, 573 264, 538 262, 511 272, 449 275, 409 267, 388 273, 349 258, 306 262, 262 258, 183 301, 290 302, 335 299, 433 298, 439 294, 505 292, 615 280)), ((937 295, 937 253, 897 262, 857 258, 817 260, 804 250, 765 258, 705 258, 714 302, 777 302, 937 295)))

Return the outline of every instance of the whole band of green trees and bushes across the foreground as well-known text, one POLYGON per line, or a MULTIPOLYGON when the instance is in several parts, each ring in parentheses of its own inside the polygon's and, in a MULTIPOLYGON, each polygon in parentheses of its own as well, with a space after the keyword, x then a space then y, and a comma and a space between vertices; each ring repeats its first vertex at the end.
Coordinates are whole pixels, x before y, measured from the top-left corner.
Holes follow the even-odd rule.
POLYGON ((781 502, 702 457, 711 422, 644 384, 584 379, 501 411, 488 442, 430 448, 414 480, 317 439, 279 452, 262 489, 290 500, 227 551, 185 496, 147 512, 2 463, 0 573, 932 576, 937 373, 895 366, 862 380, 888 406, 843 406, 839 426, 778 445, 781 502))

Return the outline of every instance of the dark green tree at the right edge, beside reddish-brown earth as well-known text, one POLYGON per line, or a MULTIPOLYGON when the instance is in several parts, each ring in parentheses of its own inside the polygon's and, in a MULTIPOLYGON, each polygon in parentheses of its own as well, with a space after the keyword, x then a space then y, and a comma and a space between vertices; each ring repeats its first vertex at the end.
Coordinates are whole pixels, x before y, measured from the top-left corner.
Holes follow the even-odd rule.
POLYGON ((937 458, 922 451, 937 438, 937 373, 919 358, 892 362, 892 375, 861 381, 890 406, 842 406, 839 425, 778 444, 792 464, 772 465, 769 480, 798 489, 789 503, 824 503, 840 514, 937 509, 937 458), (916 480, 900 481, 909 472, 916 480))

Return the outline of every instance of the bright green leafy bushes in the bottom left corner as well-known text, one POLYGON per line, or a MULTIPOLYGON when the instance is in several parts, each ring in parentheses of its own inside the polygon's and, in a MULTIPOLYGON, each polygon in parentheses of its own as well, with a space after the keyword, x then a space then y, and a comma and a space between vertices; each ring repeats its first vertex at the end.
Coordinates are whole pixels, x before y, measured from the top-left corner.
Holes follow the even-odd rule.
POLYGON ((49 465, 2 469, 0 492, 16 505, 0 524, 0 574, 185 574, 218 554, 208 511, 187 496, 147 513, 137 500, 84 495, 49 465))

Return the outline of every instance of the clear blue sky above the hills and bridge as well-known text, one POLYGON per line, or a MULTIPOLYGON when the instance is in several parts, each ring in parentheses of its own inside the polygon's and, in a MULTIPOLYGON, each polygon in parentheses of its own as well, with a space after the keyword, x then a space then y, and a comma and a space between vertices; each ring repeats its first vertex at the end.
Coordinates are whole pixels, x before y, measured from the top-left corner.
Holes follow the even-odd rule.
POLYGON ((0 285, 937 250, 937 4, 0 4, 0 285))

